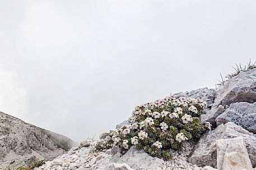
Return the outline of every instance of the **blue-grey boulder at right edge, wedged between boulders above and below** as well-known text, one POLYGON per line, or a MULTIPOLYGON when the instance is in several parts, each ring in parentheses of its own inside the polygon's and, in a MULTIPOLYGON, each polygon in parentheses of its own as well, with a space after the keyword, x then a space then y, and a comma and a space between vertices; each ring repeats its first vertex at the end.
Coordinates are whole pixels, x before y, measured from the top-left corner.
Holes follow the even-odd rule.
POLYGON ((234 122, 249 132, 256 133, 256 103, 246 102, 231 104, 216 118, 217 125, 234 122))

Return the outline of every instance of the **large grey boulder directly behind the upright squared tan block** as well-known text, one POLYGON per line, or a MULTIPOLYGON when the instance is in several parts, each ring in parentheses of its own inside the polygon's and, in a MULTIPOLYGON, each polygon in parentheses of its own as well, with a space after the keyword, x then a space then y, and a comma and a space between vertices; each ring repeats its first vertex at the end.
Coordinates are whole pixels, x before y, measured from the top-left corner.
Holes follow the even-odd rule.
POLYGON ((256 135, 248 132, 235 123, 228 122, 219 125, 215 130, 207 132, 198 141, 188 161, 198 166, 212 166, 216 168, 217 148, 216 140, 243 137, 252 165, 256 165, 256 135))

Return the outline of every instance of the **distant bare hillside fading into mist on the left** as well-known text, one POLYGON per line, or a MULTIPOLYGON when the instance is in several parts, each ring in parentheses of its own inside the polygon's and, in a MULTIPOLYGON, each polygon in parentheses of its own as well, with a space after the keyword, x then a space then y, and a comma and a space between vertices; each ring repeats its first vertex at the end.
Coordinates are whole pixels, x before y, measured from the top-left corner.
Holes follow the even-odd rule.
POLYGON ((63 135, 50 132, 0 112, 0 162, 33 163, 52 160, 77 145, 63 135))

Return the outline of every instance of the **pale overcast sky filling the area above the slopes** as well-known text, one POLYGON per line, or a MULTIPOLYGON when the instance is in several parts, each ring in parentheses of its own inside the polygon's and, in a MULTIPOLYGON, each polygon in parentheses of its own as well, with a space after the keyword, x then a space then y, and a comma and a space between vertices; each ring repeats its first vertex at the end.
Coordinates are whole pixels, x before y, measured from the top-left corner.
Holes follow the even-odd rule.
POLYGON ((0 0, 0 110, 77 142, 256 59, 256 1, 0 0))

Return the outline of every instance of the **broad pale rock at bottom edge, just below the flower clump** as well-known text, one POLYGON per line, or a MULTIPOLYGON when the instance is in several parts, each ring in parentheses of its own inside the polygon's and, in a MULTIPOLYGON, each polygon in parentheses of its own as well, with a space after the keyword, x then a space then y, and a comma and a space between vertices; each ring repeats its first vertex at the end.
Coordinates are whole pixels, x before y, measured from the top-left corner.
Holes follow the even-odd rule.
POLYGON ((164 167, 164 161, 162 159, 153 158, 143 150, 137 150, 134 146, 131 147, 122 157, 119 157, 118 154, 116 154, 111 162, 127 163, 128 166, 133 169, 144 168, 147 170, 155 170, 156 167, 164 167))

